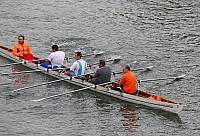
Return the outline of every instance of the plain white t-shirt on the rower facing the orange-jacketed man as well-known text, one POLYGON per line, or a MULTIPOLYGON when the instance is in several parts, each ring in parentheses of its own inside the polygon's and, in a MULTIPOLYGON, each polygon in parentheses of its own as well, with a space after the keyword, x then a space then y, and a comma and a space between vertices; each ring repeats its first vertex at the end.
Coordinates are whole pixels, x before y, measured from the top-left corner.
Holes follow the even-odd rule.
POLYGON ((54 67, 54 66, 58 66, 58 67, 62 66, 63 62, 64 62, 64 59, 65 59, 65 53, 63 51, 52 52, 48 57, 48 60, 51 61, 52 67, 54 67))

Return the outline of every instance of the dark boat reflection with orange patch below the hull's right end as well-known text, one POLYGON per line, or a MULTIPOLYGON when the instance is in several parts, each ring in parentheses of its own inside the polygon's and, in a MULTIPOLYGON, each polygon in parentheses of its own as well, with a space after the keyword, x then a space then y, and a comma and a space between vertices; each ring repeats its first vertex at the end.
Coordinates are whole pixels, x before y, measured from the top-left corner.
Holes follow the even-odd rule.
POLYGON ((96 105, 99 109, 101 109, 100 111, 104 111, 106 113, 115 111, 115 114, 119 114, 116 117, 120 119, 118 123, 124 131, 135 132, 135 130, 141 126, 139 122, 149 119, 154 120, 156 118, 166 125, 176 126, 181 129, 184 128, 184 123, 178 114, 143 105, 130 104, 101 94, 95 95, 100 98, 96 99, 96 105), (143 117, 143 115, 147 116, 143 117))

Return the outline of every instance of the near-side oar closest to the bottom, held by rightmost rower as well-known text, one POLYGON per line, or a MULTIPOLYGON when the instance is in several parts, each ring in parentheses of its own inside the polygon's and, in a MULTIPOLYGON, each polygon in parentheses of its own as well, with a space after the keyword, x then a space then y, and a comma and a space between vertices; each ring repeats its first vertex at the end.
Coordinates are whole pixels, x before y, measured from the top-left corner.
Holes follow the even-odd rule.
POLYGON ((40 99, 32 100, 32 101, 33 102, 39 102, 39 101, 43 101, 43 100, 46 100, 46 99, 50 99, 50 98, 54 98, 54 97, 58 97, 58 96, 62 96, 62 95, 66 95, 66 94, 70 94, 70 93, 86 90, 86 89, 89 89, 89 88, 95 88, 97 86, 107 85, 107 84, 110 84, 110 83, 113 83, 113 82, 115 82, 115 81, 106 82, 106 83, 102 83, 102 84, 98 84, 98 85, 91 85, 91 86, 87 86, 87 87, 80 88, 80 89, 77 89, 77 90, 73 90, 73 91, 70 91, 70 92, 65 92, 65 93, 61 93, 61 94, 57 94, 57 95, 52 95, 52 96, 48 96, 48 97, 44 97, 44 98, 40 98, 40 99))

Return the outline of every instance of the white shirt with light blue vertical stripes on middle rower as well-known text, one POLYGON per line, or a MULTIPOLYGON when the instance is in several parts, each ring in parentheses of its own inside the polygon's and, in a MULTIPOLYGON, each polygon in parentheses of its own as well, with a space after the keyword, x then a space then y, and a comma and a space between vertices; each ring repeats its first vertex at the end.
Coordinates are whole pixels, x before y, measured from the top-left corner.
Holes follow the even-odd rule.
POLYGON ((75 61, 72 66, 70 67, 70 70, 75 72, 76 76, 81 76, 81 75, 85 75, 86 74, 86 69, 87 69, 87 63, 85 60, 80 59, 75 61), (82 69, 79 70, 80 66, 79 66, 79 62, 81 64, 82 69))

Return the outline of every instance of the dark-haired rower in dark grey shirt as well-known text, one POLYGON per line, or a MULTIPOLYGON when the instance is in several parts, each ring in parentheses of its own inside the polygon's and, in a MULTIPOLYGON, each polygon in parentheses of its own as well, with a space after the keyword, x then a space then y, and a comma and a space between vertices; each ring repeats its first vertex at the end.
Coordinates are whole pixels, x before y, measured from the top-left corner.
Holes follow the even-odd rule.
POLYGON ((105 65, 104 60, 99 60, 98 63, 99 69, 96 70, 92 79, 89 79, 88 82, 95 85, 110 82, 111 79, 111 68, 105 65))

